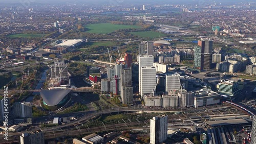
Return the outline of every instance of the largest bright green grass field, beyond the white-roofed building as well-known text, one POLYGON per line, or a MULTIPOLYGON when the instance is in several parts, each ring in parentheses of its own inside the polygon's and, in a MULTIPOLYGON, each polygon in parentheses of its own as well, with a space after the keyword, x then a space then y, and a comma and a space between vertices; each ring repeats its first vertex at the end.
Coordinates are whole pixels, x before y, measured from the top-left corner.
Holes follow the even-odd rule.
POLYGON ((133 25, 114 25, 112 23, 96 23, 96 24, 87 25, 85 28, 87 29, 86 32, 89 32, 89 33, 107 34, 120 29, 130 29, 130 28, 139 29, 141 27, 133 26, 133 25))

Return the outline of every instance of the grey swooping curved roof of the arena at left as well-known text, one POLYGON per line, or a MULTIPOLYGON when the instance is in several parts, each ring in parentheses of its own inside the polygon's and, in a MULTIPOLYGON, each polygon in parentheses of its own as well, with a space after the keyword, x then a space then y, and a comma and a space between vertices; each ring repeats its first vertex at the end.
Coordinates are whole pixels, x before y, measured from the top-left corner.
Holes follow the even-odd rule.
POLYGON ((41 90, 40 95, 48 106, 56 106, 70 92, 70 89, 41 90))

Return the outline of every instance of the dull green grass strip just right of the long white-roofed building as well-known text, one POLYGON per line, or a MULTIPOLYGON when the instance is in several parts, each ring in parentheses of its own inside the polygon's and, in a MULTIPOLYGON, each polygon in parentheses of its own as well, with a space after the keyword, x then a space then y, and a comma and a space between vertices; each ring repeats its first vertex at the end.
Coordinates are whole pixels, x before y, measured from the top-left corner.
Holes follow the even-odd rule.
POLYGON ((117 46, 117 43, 111 42, 111 41, 87 42, 86 45, 80 48, 80 51, 87 51, 90 48, 98 47, 98 46, 117 46))

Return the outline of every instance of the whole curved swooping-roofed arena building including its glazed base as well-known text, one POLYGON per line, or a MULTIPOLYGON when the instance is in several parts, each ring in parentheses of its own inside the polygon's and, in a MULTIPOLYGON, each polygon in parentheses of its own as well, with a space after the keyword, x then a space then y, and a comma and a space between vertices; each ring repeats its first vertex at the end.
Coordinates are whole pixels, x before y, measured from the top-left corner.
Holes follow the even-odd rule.
POLYGON ((41 90, 42 104, 48 110, 57 110, 64 106, 71 98, 70 91, 70 89, 41 90))

